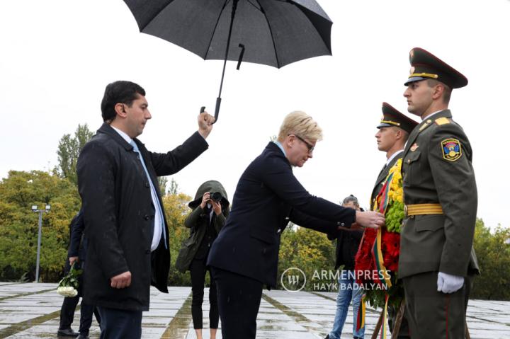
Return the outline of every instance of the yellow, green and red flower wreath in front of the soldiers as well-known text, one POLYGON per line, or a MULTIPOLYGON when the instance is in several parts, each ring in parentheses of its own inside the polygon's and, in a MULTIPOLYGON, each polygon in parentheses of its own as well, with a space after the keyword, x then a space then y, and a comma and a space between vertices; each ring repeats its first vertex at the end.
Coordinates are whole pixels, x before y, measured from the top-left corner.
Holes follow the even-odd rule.
POLYGON ((384 268, 390 276, 390 283, 385 284, 383 280, 374 280, 371 274, 363 274, 363 272, 376 272, 380 270, 380 268, 378 268, 377 258, 375 258, 373 254, 373 248, 376 245, 375 243, 377 242, 378 236, 377 229, 365 229, 355 258, 355 270, 358 273, 356 275, 358 278, 356 282, 365 287, 373 287, 365 288, 364 297, 364 300, 368 301, 370 306, 373 307, 384 308, 386 300, 388 305, 398 307, 404 298, 402 280, 398 280, 397 277, 400 253, 400 229, 402 227, 402 219, 404 219, 404 192, 402 189, 401 166, 402 159, 399 159, 397 163, 390 168, 390 172, 373 206, 373 210, 380 211, 382 208, 381 205, 386 204, 386 222, 385 226, 380 229, 380 252, 382 253, 384 268))

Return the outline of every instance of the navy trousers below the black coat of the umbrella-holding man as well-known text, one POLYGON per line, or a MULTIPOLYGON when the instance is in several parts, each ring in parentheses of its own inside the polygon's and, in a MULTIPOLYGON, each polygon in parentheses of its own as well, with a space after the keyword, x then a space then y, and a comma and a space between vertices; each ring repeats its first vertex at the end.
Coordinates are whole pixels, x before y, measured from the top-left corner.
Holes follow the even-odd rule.
POLYGON ((98 306, 101 314, 101 339, 142 338, 142 311, 108 309, 98 306))

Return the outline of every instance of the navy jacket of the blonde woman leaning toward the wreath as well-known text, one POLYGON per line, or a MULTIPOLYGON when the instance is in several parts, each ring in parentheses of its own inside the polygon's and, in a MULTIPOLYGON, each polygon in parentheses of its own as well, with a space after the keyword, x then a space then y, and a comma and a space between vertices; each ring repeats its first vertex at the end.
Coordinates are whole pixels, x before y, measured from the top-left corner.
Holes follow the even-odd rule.
POLYGON ((208 265, 276 287, 280 235, 288 222, 336 234, 356 211, 310 195, 293 175, 280 148, 270 142, 246 168, 232 210, 208 257, 208 265))

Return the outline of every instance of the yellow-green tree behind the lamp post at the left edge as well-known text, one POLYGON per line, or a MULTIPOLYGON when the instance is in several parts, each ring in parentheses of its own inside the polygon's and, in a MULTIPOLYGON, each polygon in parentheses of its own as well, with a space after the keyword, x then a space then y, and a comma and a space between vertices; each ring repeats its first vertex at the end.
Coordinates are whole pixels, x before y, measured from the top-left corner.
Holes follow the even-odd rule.
POLYGON ((9 171, 0 182, 0 278, 35 277, 38 214, 31 206, 51 205, 42 214, 40 278, 55 282, 67 256, 69 222, 79 210, 76 188, 67 179, 43 171, 9 171))

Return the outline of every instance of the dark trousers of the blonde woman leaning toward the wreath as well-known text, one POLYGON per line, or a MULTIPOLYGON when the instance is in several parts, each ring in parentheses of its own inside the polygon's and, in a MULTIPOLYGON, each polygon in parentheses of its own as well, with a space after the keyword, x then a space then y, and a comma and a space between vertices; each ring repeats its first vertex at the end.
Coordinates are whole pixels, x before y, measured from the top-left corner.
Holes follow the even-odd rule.
POLYGON ((222 338, 254 339, 262 283, 215 267, 211 271, 217 288, 222 338))

